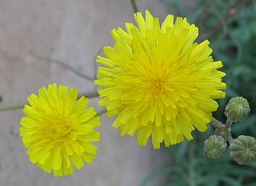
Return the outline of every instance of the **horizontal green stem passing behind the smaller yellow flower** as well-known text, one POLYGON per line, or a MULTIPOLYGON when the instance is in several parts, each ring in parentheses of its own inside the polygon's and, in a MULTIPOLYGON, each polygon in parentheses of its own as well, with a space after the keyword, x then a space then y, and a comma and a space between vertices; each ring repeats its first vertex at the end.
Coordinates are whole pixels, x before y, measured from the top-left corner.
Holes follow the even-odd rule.
MULTIPOLYGON (((87 98, 94 98, 94 97, 98 97, 98 92, 91 91, 88 93, 78 94, 78 99, 82 96, 87 97, 87 98)), ((0 105, 0 112, 23 109, 24 105, 26 105, 26 104, 27 103, 18 103, 18 104, 14 104, 14 105, 0 105)))

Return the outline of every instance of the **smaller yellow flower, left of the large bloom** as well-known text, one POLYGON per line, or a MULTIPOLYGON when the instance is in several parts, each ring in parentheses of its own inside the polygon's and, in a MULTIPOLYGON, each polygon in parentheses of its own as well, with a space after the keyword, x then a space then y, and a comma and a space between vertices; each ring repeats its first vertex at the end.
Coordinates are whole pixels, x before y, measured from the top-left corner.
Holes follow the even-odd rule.
POLYGON ((86 109, 89 100, 81 97, 78 90, 56 84, 42 87, 38 97, 28 97, 20 124, 20 136, 27 155, 33 164, 44 172, 54 171, 54 176, 70 175, 75 168, 82 168, 84 162, 94 160, 97 147, 90 142, 100 140, 100 133, 94 128, 101 125, 95 117, 94 108, 86 109))

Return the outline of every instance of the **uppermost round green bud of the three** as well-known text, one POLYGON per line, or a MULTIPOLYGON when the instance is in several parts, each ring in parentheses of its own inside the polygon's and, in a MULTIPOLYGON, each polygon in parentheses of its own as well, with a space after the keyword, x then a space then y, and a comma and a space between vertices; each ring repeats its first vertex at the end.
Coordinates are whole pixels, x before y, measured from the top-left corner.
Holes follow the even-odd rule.
POLYGON ((250 113, 250 106, 243 97, 233 97, 226 105, 225 115, 230 121, 243 121, 248 113, 250 113))

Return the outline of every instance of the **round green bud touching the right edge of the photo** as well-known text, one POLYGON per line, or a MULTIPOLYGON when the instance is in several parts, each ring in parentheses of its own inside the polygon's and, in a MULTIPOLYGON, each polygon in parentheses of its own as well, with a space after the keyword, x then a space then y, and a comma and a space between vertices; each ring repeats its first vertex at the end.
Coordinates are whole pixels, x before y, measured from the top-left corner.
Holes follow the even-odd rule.
POLYGON ((230 157, 238 164, 250 164, 256 161, 256 140, 250 136, 239 136, 230 144, 230 157))

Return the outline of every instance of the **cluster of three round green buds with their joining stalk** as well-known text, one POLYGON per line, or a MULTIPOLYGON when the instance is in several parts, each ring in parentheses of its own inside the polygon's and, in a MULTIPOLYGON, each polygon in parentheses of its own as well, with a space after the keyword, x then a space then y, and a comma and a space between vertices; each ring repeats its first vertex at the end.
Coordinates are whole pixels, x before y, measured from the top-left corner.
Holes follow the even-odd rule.
POLYGON ((245 98, 230 99, 225 111, 226 124, 213 118, 215 132, 204 143, 204 156, 211 159, 222 158, 226 148, 230 148, 230 157, 238 164, 250 164, 256 161, 255 138, 241 135, 233 139, 231 135, 231 125, 246 119, 248 113, 250 113, 250 106, 245 98))

